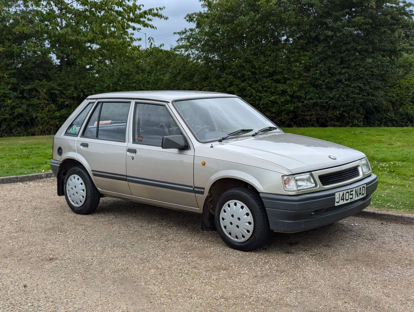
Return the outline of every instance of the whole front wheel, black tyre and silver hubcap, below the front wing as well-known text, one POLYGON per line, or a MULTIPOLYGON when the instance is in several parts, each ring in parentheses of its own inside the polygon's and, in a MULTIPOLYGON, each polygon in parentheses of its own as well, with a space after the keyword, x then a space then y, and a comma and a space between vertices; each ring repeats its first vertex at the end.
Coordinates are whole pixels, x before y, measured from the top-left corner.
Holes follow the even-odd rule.
POLYGON ((214 217, 221 239, 233 249, 252 251, 269 237, 270 227, 262 201, 248 189, 230 189, 221 194, 214 217))

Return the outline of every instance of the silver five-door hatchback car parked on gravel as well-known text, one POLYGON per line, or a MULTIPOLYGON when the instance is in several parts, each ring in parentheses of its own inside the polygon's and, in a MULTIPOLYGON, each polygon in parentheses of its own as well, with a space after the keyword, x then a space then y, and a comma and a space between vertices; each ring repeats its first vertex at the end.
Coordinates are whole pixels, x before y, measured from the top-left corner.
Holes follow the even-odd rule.
POLYGON ((284 133, 237 96, 197 91, 89 96, 56 133, 51 168, 75 213, 103 196, 192 211, 243 251, 271 230, 354 215, 378 185, 362 152, 284 133))

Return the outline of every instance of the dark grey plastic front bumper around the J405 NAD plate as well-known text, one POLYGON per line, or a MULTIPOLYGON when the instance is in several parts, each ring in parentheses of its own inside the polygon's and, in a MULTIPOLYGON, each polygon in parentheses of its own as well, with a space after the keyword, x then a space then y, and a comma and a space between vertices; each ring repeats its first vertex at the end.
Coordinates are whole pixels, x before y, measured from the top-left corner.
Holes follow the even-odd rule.
POLYGON ((261 193, 270 228, 275 232, 294 233, 314 229, 358 213, 371 203, 378 186, 375 174, 352 184, 301 195, 261 193), (366 184, 366 196, 335 206, 335 193, 366 184))

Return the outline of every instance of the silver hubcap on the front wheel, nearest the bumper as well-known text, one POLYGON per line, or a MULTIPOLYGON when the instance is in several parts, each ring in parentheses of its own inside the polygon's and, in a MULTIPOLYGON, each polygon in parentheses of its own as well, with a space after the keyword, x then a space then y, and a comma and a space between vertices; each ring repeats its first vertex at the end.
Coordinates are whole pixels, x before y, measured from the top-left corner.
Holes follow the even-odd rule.
POLYGON ((241 201, 228 201, 220 212, 221 229, 235 242, 244 242, 253 233, 253 216, 241 201))

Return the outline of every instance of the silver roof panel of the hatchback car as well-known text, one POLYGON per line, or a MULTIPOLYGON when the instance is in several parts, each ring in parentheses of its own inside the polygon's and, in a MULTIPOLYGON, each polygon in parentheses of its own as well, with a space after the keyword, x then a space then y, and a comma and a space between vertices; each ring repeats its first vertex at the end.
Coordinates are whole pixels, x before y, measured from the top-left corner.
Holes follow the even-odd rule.
POLYGON ((149 99, 171 102, 177 99, 196 99, 205 97, 236 97, 236 95, 207 91, 125 91, 94 94, 87 97, 87 99, 149 99))

